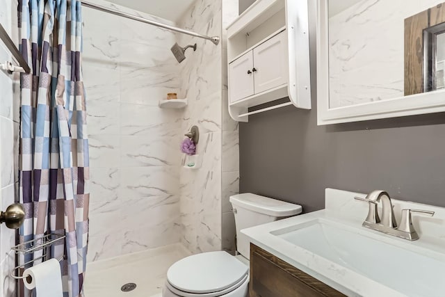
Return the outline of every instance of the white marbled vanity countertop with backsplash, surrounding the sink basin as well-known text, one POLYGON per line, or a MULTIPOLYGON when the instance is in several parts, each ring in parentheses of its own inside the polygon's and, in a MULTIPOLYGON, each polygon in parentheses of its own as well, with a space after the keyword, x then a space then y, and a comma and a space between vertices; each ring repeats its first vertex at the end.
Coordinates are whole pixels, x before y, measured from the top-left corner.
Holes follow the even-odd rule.
MULTIPOLYGON (((305 271, 347 296, 419 296, 416 294, 407 295, 406 292, 403 294, 398 290, 396 291, 396 289, 391 289, 380 282, 366 277, 366 275, 347 268, 347 265, 341 266, 271 233, 276 232, 276 230, 282 230, 283 228, 291 228, 301 223, 325 219, 347 227, 349 232, 352 231, 355 234, 361 234, 383 243, 389 243, 391 246, 403 248, 404 250, 445 263, 445 208, 393 199, 394 212, 398 221, 400 221, 401 209, 428 209, 435 211, 433 218, 413 215, 413 225, 419 233, 420 239, 417 241, 407 241, 362 227, 369 208, 366 203, 355 201, 354 197, 364 198, 365 196, 366 195, 361 193, 328 188, 326 189, 325 209, 251 227, 241 230, 241 232, 248 236, 250 241, 256 246, 263 248, 296 268, 305 271)), ((355 245, 354 242, 348 244, 351 246, 355 245)), ((376 254, 382 255, 382 252, 385 251, 375 250, 376 254)), ((366 257, 366 252, 364 252, 363 256, 366 257)), ((385 255, 382 255, 382 262, 376 265, 379 266, 379 269, 381 267, 382 271, 388 272, 388 270, 391 269, 389 273, 398 275, 398 271, 394 266, 385 267, 390 259, 385 259, 384 256, 385 255)), ((407 261, 409 261, 409 259, 407 259, 407 261)), ((445 272, 442 271, 442 273, 444 273, 445 279, 445 272)), ((401 282, 411 282, 411 280, 401 280, 401 282)), ((442 283, 438 284, 437 289, 442 290, 444 286, 442 283)), ((440 294, 439 291, 437 291, 437 294, 440 294)), ((442 291, 442 294, 445 294, 445 291, 442 291)))

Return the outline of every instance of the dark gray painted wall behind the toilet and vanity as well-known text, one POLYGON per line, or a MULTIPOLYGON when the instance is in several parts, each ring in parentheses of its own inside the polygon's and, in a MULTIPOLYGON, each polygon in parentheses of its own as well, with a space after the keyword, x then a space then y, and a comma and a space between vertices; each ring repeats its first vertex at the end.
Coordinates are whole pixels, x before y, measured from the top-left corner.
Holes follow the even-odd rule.
MULTIPOLYGON (((241 3, 252 2, 250 0, 241 3)), ((324 189, 445 207, 445 113, 316 125, 316 60, 311 28, 312 110, 287 106, 240 124, 240 191, 324 207, 324 189)))

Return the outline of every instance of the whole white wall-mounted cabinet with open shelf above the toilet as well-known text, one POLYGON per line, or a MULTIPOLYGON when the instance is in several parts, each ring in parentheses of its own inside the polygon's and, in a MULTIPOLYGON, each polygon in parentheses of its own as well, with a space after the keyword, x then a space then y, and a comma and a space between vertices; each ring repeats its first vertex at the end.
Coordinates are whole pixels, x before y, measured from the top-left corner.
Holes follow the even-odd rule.
POLYGON ((248 115, 293 104, 311 109, 307 1, 257 0, 227 27, 229 113, 248 115), (249 113, 252 106, 289 97, 249 113))

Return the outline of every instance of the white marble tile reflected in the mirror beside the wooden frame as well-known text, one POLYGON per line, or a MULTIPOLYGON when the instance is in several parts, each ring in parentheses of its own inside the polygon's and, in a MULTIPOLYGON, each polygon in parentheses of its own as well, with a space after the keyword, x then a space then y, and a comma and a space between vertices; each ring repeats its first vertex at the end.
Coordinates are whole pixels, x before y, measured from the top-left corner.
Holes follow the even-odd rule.
POLYGON ((404 19, 442 2, 364 0, 330 17, 330 107, 403 96, 404 19))

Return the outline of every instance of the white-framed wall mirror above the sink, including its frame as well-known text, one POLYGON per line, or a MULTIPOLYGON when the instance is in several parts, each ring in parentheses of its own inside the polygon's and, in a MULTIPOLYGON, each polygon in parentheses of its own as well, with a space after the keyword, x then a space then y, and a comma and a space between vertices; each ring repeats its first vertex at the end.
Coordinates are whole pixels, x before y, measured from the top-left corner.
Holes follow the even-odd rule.
POLYGON ((318 125, 445 111, 444 0, 317 0, 318 125))

